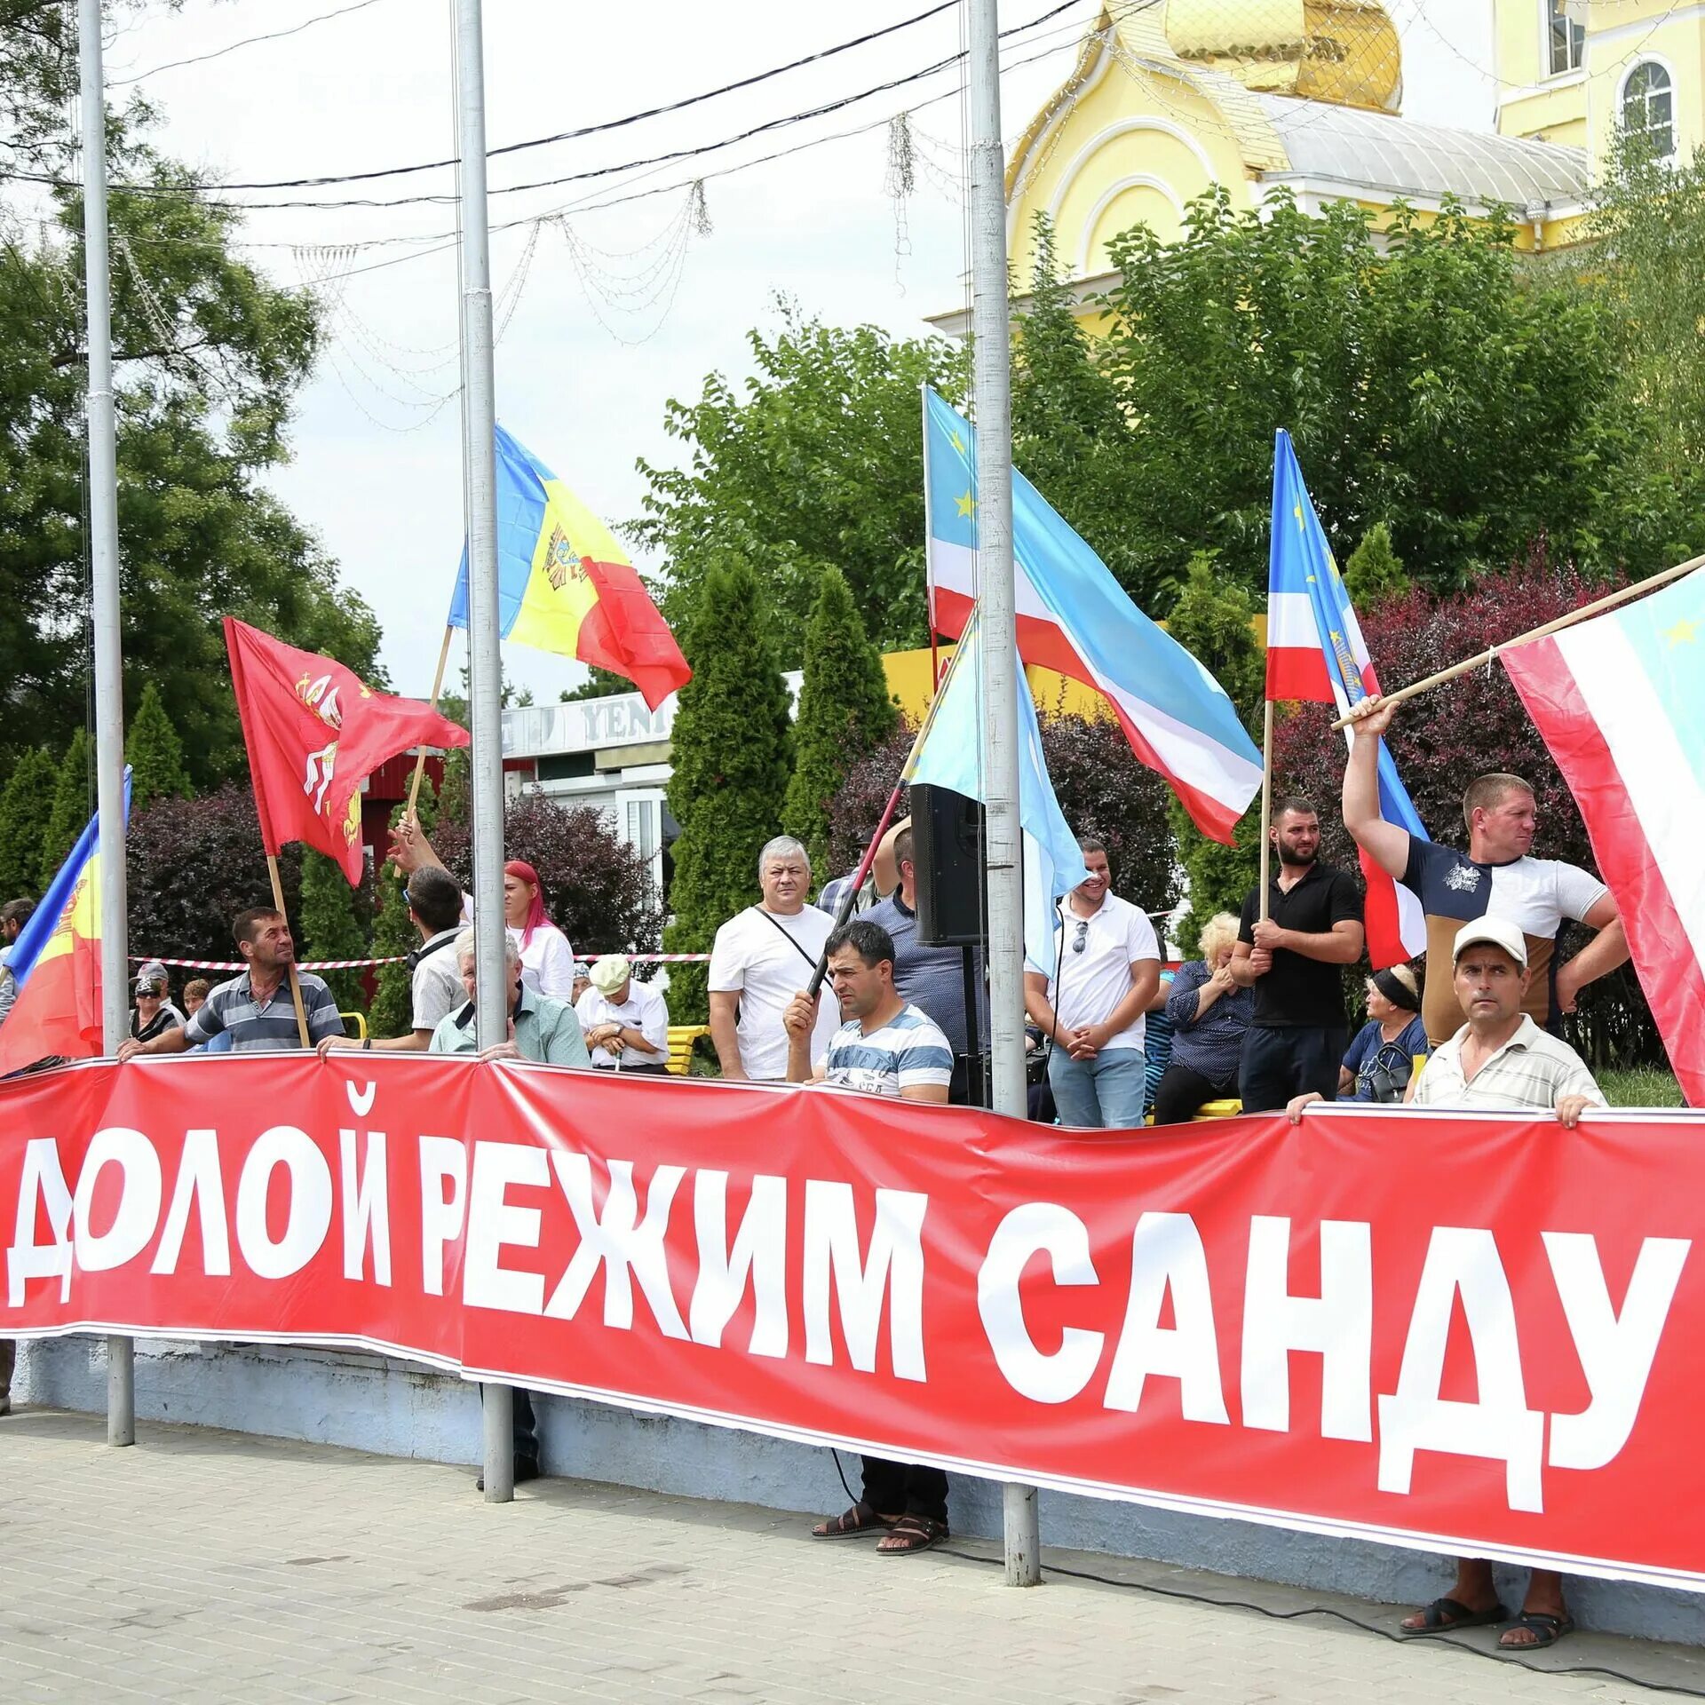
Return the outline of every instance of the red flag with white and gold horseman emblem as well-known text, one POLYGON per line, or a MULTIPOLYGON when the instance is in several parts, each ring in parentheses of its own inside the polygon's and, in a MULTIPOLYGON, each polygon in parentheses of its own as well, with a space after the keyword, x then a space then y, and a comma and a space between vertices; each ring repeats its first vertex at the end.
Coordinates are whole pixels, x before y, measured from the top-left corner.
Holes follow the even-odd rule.
POLYGON ((361 783, 416 745, 467 745, 419 699, 373 692, 353 670, 225 617, 230 684, 249 748, 261 842, 302 841, 361 880, 361 783))

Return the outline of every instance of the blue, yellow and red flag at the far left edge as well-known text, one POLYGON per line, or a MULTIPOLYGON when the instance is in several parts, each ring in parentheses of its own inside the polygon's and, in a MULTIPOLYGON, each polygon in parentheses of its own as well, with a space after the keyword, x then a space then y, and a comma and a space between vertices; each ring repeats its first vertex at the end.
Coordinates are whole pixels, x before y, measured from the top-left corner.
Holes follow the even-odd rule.
MULTIPOLYGON (((124 771, 130 815, 130 771, 124 771)), ((94 1059, 101 1020, 101 813, 77 837, 41 905, 12 945, 17 999, 0 1025, 0 1078, 36 1061, 94 1059)))

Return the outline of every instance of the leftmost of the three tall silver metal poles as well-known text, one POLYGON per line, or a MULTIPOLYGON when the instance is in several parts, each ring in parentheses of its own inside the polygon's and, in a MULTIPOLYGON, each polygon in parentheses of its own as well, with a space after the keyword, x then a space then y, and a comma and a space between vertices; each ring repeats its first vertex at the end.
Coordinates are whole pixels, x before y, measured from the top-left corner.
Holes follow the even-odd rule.
MULTIPOLYGON (((118 617, 118 443, 113 423, 113 288, 107 275, 106 75, 101 0, 78 0, 84 128, 84 271, 89 321, 89 558, 95 638, 95 801, 101 812, 101 1032, 116 1054, 130 1032, 124 890, 124 658, 118 617)), ((107 1338, 107 1444, 136 1442, 130 1338, 107 1338)))

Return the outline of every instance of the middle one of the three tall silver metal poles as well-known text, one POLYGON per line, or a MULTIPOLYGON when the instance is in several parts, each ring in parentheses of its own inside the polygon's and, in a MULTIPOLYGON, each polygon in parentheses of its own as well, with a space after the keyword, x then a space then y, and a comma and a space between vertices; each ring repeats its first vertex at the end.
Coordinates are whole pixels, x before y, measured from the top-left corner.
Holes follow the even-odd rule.
MULTIPOLYGON (((486 225, 486 53, 479 0, 455 0, 455 131, 462 159, 462 457, 467 469, 467 660, 474 737, 474 1035, 508 1035, 503 934, 503 655, 498 633, 496 377, 491 365, 491 232, 486 225)), ((515 1497, 513 1395, 484 1390, 486 1502, 515 1497)))

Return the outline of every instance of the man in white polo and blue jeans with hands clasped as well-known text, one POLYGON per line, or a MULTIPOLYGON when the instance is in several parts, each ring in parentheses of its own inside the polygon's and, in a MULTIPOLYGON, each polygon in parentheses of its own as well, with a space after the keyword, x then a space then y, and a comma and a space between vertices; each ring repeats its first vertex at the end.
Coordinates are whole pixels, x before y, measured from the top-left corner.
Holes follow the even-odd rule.
POLYGON ((1084 835, 1084 870, 1061 902, 1055 965, 1025 967, 1025 1011, 1052 1040, 1049 1088, 1062 1125, 1130 1130, 1142 1124, 1144 1020, 1159 987, 1154 926, 1112 892, 1107 847, 1084 835))

